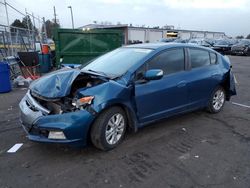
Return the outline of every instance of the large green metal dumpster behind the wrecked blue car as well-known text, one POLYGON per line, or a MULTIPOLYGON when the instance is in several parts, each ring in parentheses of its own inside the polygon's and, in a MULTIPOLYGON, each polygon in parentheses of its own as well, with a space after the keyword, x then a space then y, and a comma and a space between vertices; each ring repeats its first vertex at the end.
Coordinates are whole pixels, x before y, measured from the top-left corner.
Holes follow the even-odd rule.
POLYGON ((88 61, 122 46, 121 30, 56 29, 56 64, 86 64, 88 61), (60 62, 60 58, 63 62, 60 62))

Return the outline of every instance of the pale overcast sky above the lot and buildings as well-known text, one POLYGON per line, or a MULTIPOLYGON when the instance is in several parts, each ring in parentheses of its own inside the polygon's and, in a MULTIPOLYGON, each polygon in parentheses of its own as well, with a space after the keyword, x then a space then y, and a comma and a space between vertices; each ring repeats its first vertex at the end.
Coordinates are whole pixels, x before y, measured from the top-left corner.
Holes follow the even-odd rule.
MULTIPOLYGON (((3 1, 3 0, 0 0, 3 1)), ((6 0, 17 9, 46 19, 53 18, 53 6, 63 27, 71 27, 69 5, 75 27, 93 21, 164 26, 178 29, 222 31, 229 36, 250 33, 250 0, 6 0)), ((5 19, 0 8, 1 19, 5 19)), ((19 15, 20 16, 20 15, 19 15)), ((10 18, 16 14, 10 10, 10 18)), ((2 21, 1 21, 2 22, 2 21)))

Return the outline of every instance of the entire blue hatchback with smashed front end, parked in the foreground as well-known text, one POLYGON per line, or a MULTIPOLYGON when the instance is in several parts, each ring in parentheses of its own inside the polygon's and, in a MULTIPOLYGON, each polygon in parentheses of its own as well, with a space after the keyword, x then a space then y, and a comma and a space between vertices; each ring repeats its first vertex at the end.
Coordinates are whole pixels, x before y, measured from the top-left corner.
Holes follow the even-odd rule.
POLYGON ((21 100, 32 141, 116 147, 126 130, 206 108, 222 110, 236 94, 229 59, 191 44, 118 48, 77 69, 34 81, 21 100))

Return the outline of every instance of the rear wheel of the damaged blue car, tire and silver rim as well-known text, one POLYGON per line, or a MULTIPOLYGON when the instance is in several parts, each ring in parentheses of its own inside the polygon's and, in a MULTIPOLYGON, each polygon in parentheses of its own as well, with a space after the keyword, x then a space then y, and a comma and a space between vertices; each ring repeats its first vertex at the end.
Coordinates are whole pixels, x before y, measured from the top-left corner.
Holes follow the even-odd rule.
POLYGON ((212 114, 218 113, 222 110, 225 101, 226 101, 225 90, 223 89, 223 87, 219 86, 212 93, 208 102, 207 110, 212 114))

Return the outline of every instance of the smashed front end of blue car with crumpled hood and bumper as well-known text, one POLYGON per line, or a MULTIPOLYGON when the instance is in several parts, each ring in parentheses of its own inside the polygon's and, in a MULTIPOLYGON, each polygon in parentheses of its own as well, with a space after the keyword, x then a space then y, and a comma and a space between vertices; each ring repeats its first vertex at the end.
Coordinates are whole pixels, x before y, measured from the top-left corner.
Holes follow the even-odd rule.
POLYGON ((30 140, 86 145, 94 96, 79 95, 105 79, 76 69, 59 71, 31 85, 21 100, 21 123, 30 140))

